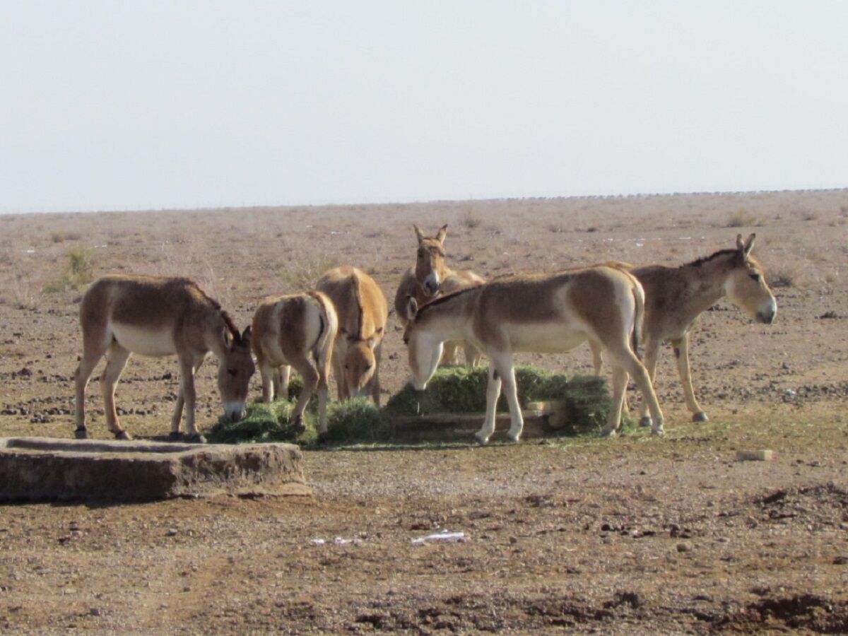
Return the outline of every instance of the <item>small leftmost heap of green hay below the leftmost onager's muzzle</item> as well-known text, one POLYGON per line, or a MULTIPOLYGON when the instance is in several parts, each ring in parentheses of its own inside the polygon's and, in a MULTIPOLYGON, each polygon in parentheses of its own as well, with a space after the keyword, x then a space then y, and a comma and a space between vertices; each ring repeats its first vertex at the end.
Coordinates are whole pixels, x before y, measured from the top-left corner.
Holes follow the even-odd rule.
POLYGON ((309 445, 318 441, 318 431, 309 410, 304 413, 304 432, 297 432, 290 418, 294 404, 278 400, 274 404, 256 402, 248 406, 247 416, 237 422, 223 418, 210 427, 206 438, 213 444, 248 444, 254 442, 291 442, 309 445))

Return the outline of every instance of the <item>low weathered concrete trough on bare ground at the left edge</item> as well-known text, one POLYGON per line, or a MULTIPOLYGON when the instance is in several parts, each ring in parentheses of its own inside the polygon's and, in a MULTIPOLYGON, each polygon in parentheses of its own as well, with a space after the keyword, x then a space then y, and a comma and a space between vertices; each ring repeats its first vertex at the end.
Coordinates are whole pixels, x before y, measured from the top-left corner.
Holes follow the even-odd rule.
POLYGON ((0 500, 311 494, 293 444, 0 438, 0 500))

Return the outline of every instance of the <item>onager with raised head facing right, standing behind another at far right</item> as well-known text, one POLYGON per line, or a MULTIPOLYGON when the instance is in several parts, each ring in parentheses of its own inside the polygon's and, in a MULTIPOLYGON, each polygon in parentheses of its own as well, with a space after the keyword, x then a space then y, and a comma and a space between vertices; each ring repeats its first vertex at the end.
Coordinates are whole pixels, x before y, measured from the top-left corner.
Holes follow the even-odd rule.
MULTIPOLYGON (((778 305, 766 284, 762 265, 750 255, 755 238, 756 234, 751 234, 743 243, 742 235, 739 234, 736 237, 736 249, 722 249, 679 267, 648 265, 630 269, 644 287, 642 338, 645 366, 651 382, 656 377, 660 345, 668 341, 674 349, 680 383, 683 385, 686 405, 692 413, 692 421, 707 420, 706 413, 695 399, 689 373, 689 330, 695 319, 724 296, 757 322, 771 324, 777 313, 778 305)), ((589 345, 592 347, 594 370, 600 373, 603 363, 600 349, 591 342, 589 345)), ((650 417, 644 406, 640 410, 640 423, 650 426, 650 417)))

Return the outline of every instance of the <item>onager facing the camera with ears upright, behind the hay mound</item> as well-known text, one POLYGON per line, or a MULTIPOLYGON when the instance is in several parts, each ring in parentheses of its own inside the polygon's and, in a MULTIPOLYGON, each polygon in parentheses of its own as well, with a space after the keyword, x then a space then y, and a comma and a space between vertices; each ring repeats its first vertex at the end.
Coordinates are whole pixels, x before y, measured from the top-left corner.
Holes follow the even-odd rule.
MULTIPOLYGON (((416 255, 416 266, 410 267, 404 272, 400 279, 398 293, 394 295, 394 310, 403 326, 410 321, 407 314, 410 297, 416 299, 416 304, 421 307, 429 303, 439 294, 448 294, 481 285, 485 280, 471 270, 451 270, 444 262, 446 255, 444 249, 444 237, 448 234, 448 226, 439 228, 435 237, 427 238, 424 232, 413 226, 418 238, 418 253, 416 255)), ((477 366, 480 364, 480 352, 468 343, 447 342, 444 343, 444 364, 455 365, 459 362, 458 349, 460 345, 466 354, 466 365, 477 366)))

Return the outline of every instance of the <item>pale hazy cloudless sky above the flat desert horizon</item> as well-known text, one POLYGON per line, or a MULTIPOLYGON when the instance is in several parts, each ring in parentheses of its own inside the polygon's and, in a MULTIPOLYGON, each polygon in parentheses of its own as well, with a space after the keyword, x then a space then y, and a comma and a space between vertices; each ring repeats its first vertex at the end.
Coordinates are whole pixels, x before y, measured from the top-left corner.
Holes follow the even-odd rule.
POLYGON ((4 2, 0 212, 848 186, 848 3, 4 2))

